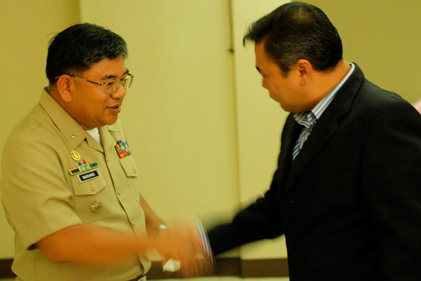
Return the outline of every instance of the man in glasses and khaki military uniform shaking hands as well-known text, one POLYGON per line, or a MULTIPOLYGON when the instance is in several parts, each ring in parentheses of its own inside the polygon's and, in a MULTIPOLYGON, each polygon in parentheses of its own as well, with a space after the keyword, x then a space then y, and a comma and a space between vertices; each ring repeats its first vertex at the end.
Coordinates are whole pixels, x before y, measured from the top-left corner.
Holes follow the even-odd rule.
POLYGON ((117 119, 133 82, 126 57, 124 40, 93 24, 71 26, 50 43, 50 86, 10 134, 2 159, 17 280, 137 280, 151 267, 150 248, 181 260, 185 275, 201 267, 199 233, 159 231, 165 225, 140 194, 117 119))

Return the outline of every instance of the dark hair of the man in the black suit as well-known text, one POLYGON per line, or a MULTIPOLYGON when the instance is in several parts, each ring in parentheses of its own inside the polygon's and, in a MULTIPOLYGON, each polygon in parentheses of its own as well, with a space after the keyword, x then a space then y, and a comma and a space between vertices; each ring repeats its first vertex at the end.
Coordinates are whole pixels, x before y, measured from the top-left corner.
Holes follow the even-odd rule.
POLYGON ((314 5, 290 2, 253 23, 243 38, 260 43, 287 74, 300 58, 316 70, 332 69, 342 59, 342 42, 326 14, 314 5))

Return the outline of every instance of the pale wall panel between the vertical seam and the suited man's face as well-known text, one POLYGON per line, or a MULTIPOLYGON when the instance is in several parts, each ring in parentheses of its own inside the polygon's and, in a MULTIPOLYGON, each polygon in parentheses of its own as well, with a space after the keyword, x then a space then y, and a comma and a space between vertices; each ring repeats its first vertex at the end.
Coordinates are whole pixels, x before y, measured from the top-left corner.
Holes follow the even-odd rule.
MULTIPOLYGON (((287 113, 269 98, 256 70, 254 44, 243 47, 246 27, 289 0, 232 0, 238 176, 242 207, 268 189, 276 169, 280 133, 287 113)), ((284 236, 242 246, 242 259, 286 257, 284 236)))

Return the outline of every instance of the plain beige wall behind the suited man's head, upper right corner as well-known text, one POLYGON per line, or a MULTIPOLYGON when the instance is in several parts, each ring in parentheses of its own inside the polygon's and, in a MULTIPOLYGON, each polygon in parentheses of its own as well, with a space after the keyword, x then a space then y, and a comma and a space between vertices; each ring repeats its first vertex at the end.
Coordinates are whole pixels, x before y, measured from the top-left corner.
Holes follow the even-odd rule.
POLYGON ((421 99, 420 0, 307 0, 320 7, 342 38, 344 58, 366 77, 411 103, 421 99))

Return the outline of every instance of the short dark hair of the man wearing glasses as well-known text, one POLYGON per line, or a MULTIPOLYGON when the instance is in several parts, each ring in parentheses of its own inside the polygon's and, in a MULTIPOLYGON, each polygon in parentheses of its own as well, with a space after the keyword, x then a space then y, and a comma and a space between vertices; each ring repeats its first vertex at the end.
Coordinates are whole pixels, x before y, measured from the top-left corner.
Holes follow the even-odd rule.
POLYGON ((127 57, 126 42, 114 32, 95 24, 80 23, 57 33, 49 43, 46 74, 54 77, 82 72, 104 58, 127 57))

